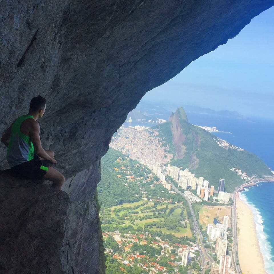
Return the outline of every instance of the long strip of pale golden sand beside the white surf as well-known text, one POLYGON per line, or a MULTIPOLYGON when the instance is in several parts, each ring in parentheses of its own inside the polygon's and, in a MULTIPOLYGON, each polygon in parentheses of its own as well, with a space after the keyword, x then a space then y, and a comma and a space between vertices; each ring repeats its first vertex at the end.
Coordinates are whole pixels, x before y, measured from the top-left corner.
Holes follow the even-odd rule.
POLYGON ((238 227, 238 255, 244 274, 267 274, 256 236, 253 214, 247 204, 236 195, 238 227))

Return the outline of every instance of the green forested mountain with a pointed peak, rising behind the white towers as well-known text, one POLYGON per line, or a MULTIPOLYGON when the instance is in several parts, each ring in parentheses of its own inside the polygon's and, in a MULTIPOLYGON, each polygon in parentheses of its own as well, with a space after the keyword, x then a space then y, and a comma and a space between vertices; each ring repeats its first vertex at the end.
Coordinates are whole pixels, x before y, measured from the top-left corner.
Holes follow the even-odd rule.
POLYGON ((204 177, 209 181, 209 185, 214 185, 215 188, 218 186, 219 178, 224 178, 226 192, 232 192, 235 186, 243 183, 241 177, 232 172, 231 168, 247 172, 249 177, 255 174, 271 175, 266 164, 255 154, 222 148, 216 143, 216 136, 189 124, 182 113, 185 112, 180 108, 170 117, 171 122, 154 127, 158 129, 162 140, 170 146, 169 151, 174 154, 171 165, 188 168, 196 177, 204 177), (176 136, 172 136, 172 126, 181 128, 182 136, 184 136, 182 144, 172 143, 172 140, 176 139, 174 138, 176 136), (184 152, 182 158, 178 157, 175 149, 179 145, 184 152))

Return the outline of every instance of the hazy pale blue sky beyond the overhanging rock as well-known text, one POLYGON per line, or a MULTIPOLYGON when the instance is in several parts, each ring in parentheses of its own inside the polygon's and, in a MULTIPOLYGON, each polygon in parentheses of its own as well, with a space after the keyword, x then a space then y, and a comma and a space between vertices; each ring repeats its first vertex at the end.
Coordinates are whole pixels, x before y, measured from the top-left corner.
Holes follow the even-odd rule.
MULTIPOLYGON (((274 7, 143 97, 274 119, 274 7)), ((178 105, 179 106, 179 105, 178 105)))

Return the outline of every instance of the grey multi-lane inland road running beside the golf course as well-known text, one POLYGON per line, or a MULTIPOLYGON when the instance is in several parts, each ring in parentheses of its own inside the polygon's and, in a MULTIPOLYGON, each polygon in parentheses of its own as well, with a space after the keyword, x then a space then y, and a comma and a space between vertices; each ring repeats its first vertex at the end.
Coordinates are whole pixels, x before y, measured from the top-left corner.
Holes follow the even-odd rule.
MULTIPOLYGON (((168 180, 168 178, 166 178, 166 180, 168 180)), ((198 234, 199 238, 200 238, 200 243, 201 244, 199 244, 198 240, 196 241, 196 243, 198 245, 198 248, 199 248, 199 251, 200 251, 200 254, 201 254, 201 257, 202 257, 202 266, 201 266, 201 268, 203 269, 203 273, 204 273, 205 267, 206 267, 206 258, 211 263, 214 263, 214 260, 209 256, 209 254, 207 253, 207 251, 205 249, 205 246, 204 246, 204 243, 203 243, 203 236, 202 236, 201 230, 198 226, 198 222, 196 220, 196 216, 195 216, 194 211, 192 209, 192 205, 191 205, 190 200, 188 200, 188 198, 186 198, 185 194, 182 193, 180 190, 178 190, 178 188, 176 188, 176 186, 174 186, 172 184, 172 182, 170 182, 170 180, 168 180, 168 182, 171 184, 172 189, 174 189, 178 194, 182 195, 186 199, 186 201, 188 202, 188 205, 190 207, 190 212, 191 212, 191 215, 192 215, 192 218, 193 218, 193 223, 194 223, 194 235, 196 236, 198 234)))

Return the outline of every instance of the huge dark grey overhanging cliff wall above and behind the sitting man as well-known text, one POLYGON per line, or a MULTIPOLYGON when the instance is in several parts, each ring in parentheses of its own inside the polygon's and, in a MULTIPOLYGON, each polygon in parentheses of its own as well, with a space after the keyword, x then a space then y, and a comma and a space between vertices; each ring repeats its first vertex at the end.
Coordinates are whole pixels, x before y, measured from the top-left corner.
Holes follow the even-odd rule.
MULTIPOLYGON (((127 113, 147 91, 226 43, 272 5, 273 0, 0 1, 0 131, 27 112, 33 96, 47 98, 41 140, 70 178, 63 189, 72 201, 62 202, 68 211, 64 237, 71 240, 77 271, 99 269, 94 190, 100 158, 127 113)), ((1 146, 1 169, 7 168, 5 153, 1 146)), ((67 211, 60 209, 56 221, 67 211)), ((63 250, 63 240, 56 242, 63 250)), ((8 263, 11 253, 1 251, 8 263)), ((65 266, 64 271, 69 273, 65 266)))

